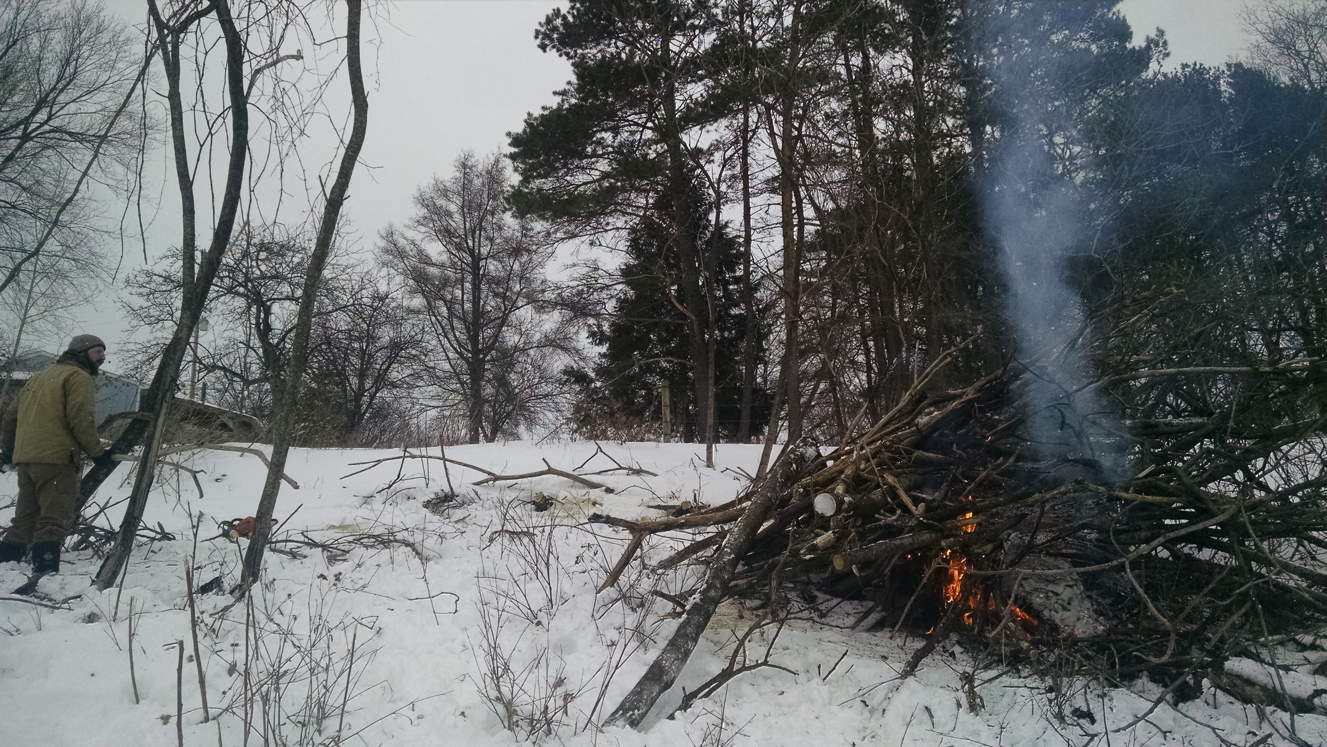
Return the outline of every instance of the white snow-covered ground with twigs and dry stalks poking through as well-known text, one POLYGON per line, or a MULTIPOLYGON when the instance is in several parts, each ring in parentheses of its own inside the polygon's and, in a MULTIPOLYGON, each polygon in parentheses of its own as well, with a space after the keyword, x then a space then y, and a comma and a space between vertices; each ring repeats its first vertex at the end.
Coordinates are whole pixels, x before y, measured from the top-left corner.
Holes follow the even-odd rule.
MULTIPOLYGON (((86 589, 98 560, 80 552, 66 553, 65 572, 44 578, 40 589, 57 600, 81 592, 69 609, 0 601, 0 744, 176 744, 179 693, 186 744, 236 747, 245 743, 245 722, 248 744, 263 744, 264 736, 271 744, 336 744, 338 734, 344 744, 1294 743, 1282 736, 1291 728, 1287 714, 1259 714, 1210 687, 1178 710, 1162 705, 1137 726, 1108 734, 1143 715, 1161 687, 1143 679, 1132 689, 1059 682, 1056 690, 1028 670, 998 663, 974 670, 959 645, 900 682, 896 670, 920 641, 852 632, 865 605, 829 610, 835 600, 824 600, 821 620, 805 616, 778 636, 764 628, 751 637, 746 663, 768 654, 776 667, 740 674, 666 718, 682 698, 674 689, 640 732, 601 730, 596 724, 675 625, 678 608, 666 596, 693 588, 702 569, 654 573, 634 561, 614 588, 596 594, 626 536, 584 524, 585 516, 656 517, 662 513, 649 506, 686 500, 715 506, 733 499, 746 482, 740 470, 754 472, 759 460, 758 446, 718 447, 715 470, 703 467, 694 444, 604 448, 658 476, 593 478, 613 488, 606 494, 556 476, 472 487, 483 475, 453 467, 459 499, 439 500, 447 483, 437 460, 389 462, 341 478, 361 468, 352 462, 394 452, 293 451, 287 471, 301 487, 281 494, 281 536, 328 547, 277 545, 301 557, 268 555, 267 582, 252 609, 226 609, 224 594, 198 597, 210 723, 191 658, 184 560, 195 559, 199 584, 215 576, 234 582, 240 549, 208 537, 219 533, 216 520, 255 511, 265 470, 252 455, 199 452, 187 462, 206 471, 204 495, 187 475, 158 487, 146 521, 174 540, 135 548, 122 589, 86 589), (547 511, 536 511, 537 492, 552 499, 547 511), (195 545, 191 519, 199 515, 195 545), (182 687, 176 641, 190 657, 182 687)), ((541 470, 544 459, 571 470, 594 452, 585 442, 449 448, 454 459, 503 474, 541 470)), ((581 471, 612 467, 598 454, 581 471)), ((100 499, 126 496, 129 484, 119 479, 127 472, 121 467, 100 499)), ((0 475, 0 504, 15 494, 13 475, 0 475)), ((121 508, 110 513, 118 520, 121 508)), ((12 506, 0 511, 3 523, 12 516, 12 506)), ((661 561, 685 539, 654 540, 645 561, 661 561)), ((25 572, 27 565, 4 564, 0 588, 16 588, 25 572)), ((758 614, 722 608, 679 686, 691 691, 722 670, 758 614)), ((1310 651, 1286 665, 1286 686, 1323 698, 1327 678, 1311 674, 1323 658, 1327 651, 1310 651)), ((1277 674, 1255 662, 1235 666, 1247 677, 1277 674)), ((1300 715, 1294 728, 1302 744, 1327 743, 1327 718, 1300 715)))

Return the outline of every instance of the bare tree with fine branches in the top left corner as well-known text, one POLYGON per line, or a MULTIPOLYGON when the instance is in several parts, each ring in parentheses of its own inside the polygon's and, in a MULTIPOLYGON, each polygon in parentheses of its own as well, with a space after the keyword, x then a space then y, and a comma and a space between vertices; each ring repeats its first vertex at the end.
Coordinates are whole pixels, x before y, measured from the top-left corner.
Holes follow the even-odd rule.
POLYGON ((97 206, 81 187, 119 182, 133 162, 146 114, 126 111, 143 70, 101 4, 0 7, 0 291, 48 244, 48 271, 88 275, 97 206))

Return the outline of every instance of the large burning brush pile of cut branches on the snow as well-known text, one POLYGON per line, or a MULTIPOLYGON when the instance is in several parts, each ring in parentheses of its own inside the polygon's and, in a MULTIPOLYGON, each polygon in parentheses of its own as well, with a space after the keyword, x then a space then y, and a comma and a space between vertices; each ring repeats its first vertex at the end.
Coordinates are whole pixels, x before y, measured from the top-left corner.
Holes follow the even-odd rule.
POLYGON ((865 435, 784 450, 731 504, 596 517, 632 532, 618 569, 650 533, 714 529, 661 564, 702 561, 707 578, 614 718, 638 723, 723 598, 778 620, 807 590, 868 601, 859 629, 925 634, 904 677, 958 636, 1059 674, 1206 677, 1316 709, 1222 665, 1327 629, 1323 361, 1132 372, 1051 398, 1013 366, 937 394, 943 365, 865 435), (1079 414, 1105 398, 1113 425, 1079 414))

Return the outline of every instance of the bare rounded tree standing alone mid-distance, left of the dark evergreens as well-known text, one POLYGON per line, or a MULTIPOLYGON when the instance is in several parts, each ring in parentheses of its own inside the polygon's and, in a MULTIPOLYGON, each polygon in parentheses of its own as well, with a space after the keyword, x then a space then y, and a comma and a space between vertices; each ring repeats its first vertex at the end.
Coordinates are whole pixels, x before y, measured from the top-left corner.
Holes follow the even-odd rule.
POLYGON ((503 157, 466 151, 453 166, 415 192, 418 214, 385 230, 381 251, 427 322, 441 360, 425 364, 445 398, 464 405, 470 443, 491 442, 553 395, 549 353, 567 342, 541 317, 552 241, 512 216, 503 157))

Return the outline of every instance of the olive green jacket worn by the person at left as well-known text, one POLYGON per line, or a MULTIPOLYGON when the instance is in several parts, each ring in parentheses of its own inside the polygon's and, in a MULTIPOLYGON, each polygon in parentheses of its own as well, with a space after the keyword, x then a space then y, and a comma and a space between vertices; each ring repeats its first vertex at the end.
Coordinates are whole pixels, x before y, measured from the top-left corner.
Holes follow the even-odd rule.
POLYGON ((80 451, 100 456, 105 450, 97 438, 96 379, 62 356, 19 391, 19 405, 5 409, 0 437, 13 448, 15 464, 77 464, 80 451))

